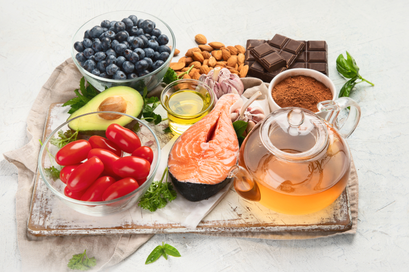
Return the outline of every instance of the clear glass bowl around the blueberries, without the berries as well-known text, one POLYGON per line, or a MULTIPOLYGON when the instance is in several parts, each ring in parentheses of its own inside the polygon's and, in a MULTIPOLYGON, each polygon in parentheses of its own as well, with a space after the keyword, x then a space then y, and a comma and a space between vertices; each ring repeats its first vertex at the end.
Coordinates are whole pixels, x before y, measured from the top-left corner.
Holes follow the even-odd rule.
POLYGON ((108 12, 102 15, 99 15, 93 19, 90 19, 86 23, 83 24, 82 27, 74 34, 73 40, 71 42, 71 57, 75 65, 77 65, 78 70, 81 74, 85 77, 85 79, 97 88, 99 91, 105 90, 105 87, 115 87, 115 86, 128 86, 138 90, 140 92, 143 91, 144 87, 148 88, 148 91, 155 88, 159 83, 161 83, 163 77, 165 76, 166 71, 169 68, 170 61, 173 58, 173 53, 175 52, 175 36, 173 35, 172 30, 169 26, 162 21, 161 19, 140 11, 133 11, 133 10, 123 10, 123 11, 113 11, 108 12), (95 26, 100 26, 103 20, 109 21, 121 21, 123 18, 128 18, 129 15, 135 15, 138 19, 149 19, 156 24, 156 28, 162 31, 162 34, 165 34, 169 38, 168 46, 172 46, 172 50, 170 52, 169 58, 165 61, 165 63, 159 67, 158 69, 154 70, 153 72, 149 73, 146 76, 139 77, 136 79, 127 79, 127 80, 114 80, 114 79, 104 79, 93 75, 92 73, 86 71, 84 68, 81 67, 81 64, 75 58, 77 55, 77 51, 74 49, 74 43, 76 41, 83 41, 84 33, 86 30, 92 29, 95 26))

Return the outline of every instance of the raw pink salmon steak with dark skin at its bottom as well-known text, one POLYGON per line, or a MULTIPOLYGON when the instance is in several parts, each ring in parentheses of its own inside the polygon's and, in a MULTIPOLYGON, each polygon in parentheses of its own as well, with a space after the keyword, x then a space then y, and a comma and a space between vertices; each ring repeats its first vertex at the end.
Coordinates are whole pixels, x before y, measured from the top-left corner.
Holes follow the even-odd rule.
POLYGON ((169 175, 187 200, 208 199, 230 182, 227 176, 239 155, 230 114, 242 103, 238 94, 221 96, 214 109, 173 144, 168 159, 169 175))

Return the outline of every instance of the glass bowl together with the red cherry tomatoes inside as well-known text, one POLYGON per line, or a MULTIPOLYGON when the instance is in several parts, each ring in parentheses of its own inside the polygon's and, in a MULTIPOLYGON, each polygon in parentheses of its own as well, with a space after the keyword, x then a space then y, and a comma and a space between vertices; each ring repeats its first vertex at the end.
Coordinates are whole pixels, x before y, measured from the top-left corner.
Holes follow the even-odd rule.
POLYGON ((160 143, 146 123, 124 113, 92 112, 67 120, 51 133, 42 143, 38 169, 65 205, 104 216, 138 203, 153 182, 160 158, 160 143), (101 114, 113 117, 106 120, 101 114))

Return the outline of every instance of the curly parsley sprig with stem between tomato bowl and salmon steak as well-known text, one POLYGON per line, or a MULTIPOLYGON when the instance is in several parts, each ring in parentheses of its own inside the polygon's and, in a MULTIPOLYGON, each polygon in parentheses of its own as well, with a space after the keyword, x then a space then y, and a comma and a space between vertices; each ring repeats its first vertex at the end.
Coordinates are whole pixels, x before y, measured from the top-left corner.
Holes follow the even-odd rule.
POLYGON ((161 209, 176 199, 176 191, 173 190, 173 185, 170 182, 162 182, 166 174, 166 180, 168 179, 168 167, 163 172, 162 179, 160 181, 154 181, 150 185, 148 191, 142 196, 138 206, 142 209, 149 210, 151 212, 161 209))

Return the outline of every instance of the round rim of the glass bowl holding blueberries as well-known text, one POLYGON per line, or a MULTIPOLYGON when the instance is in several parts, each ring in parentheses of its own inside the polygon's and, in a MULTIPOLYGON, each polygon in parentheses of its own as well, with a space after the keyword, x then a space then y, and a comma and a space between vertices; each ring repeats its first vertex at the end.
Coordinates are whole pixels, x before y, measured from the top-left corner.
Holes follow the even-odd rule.
MULTIPOLYGON (((160 18, 158 18, 158 17, 156 17, 156 16, 154 16, 154 15, 152 15, 152 14, 149 14, 149 13, 146 13, 146 12, 142 12, 142 11, 137 11, 137 10, 117 10, 117 11, 111 11, 111 12, 107 12, 107 13, 100 14, 100 15, 98 15, 98 16, 95 16, 95 17, 92 18, 92 19, 89 19, 89 20, 86 21, 84 24, 82 24, 82 26, 81 26, 81 27, 75 32, 75 34, 73 35, 73 38, 72 38, 72 40, 71 40, 71 48, 70 48, 70 50, 71 50, 71 58, 73 59, 73 61, 74 61, 75 65, 77 66, 77 68, 80 69, 81 71, 85 72, 86 75, 89 76, 89 77, 92 77, 92 78, 94 78, 94 79, 96 79, 96 80, 101 80, 101 81, 110 82, 110 83, 121 83, 121 82, 122 82, 122 83, 129 83, 129 82, 137 82, 137 81, 139 81, 139 80, 143 80, 143 79, 146 79, 146 78, 149 78, 149 77, 155 75, 158 71, 161 71, 161 70, 172 60, 173 54, 174 54, 174 52, 175 52, 175 35, 173 34, 173 31, 170 29, 170 27, 168 26, 168 24, 167 24, 166 22, 164 22, 163 20, 161 20, 160 18), (135 78, 135 79, 125 79, 125 80, 123 80, 123 79, 104 79, 104 78, 95 76, 95 75, 93 75, 92 73, 90 73, 90 72, 88 72, 87 70, 85 70, 84 68, 82 68, 81 64, 77 61, 77 59, 75 58, 75 55, 74 55, 74 43, 76 42, 74 39, 75 39, 75 36, 77 35, 77 33, 80 31, 80 29, 81 29, 82 27, 84 27, 85 24, 87 24, 88 22, 94 20, 95 18, 97 18, 97 17, 99 17, 99 16, 106 15, 106 14, 111 14, 111 13, 116 13, 116 12, 127 12, 127 11, 129 11, 129 12, 138 12, 138 13, 143 13, 143 14, 152 16, 152 17, 154 17, 154 18, 160 20, 162 23, 165 24, 165 26, 168 28, 168 30, 169 30, 169 32, 170 32, 170 34, 171 34, 171 36, 172 36, 172 51, 171 51, 170 54, 169 54, 169 58, 168 58, 168 59, 164 62, 164 64, 162 64, 159 68, 157 68, 156 70, 154 70, 154 71, 148 73, 148 75, 145 75, 145 76, 142 76, 142 77, 138 77, 138 78, 135 78)), ((132 50, 132 51, 133 51, 133 50, 132 50)))

